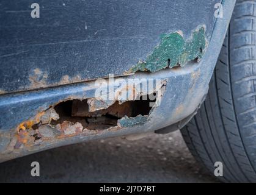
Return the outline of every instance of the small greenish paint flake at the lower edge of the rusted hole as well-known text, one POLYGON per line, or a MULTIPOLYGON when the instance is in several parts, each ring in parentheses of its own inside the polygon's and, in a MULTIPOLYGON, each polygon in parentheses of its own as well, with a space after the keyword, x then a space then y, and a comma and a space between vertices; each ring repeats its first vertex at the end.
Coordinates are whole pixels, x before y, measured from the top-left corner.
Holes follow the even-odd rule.
POLYGON ((138 115, 136 117, 125 116, 117 121, 120 127, 133 127, 147 122, 148 116, 138 115))

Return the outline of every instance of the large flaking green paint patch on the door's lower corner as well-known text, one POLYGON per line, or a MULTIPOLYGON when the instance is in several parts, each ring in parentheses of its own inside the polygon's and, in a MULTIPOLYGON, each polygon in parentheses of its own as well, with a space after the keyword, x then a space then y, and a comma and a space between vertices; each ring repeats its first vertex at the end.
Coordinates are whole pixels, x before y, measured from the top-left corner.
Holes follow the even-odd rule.
POLYGON ((205 27, 200 26, 192 32, 191 38, 184 40, 178 32, 161 35, 161 41, 152 54, 147 56, 145 62, 133 66, 129 73, 136 71, 156 72, 160 69, 172 68, 187 62, 201 59, 206 47, 205 27))

